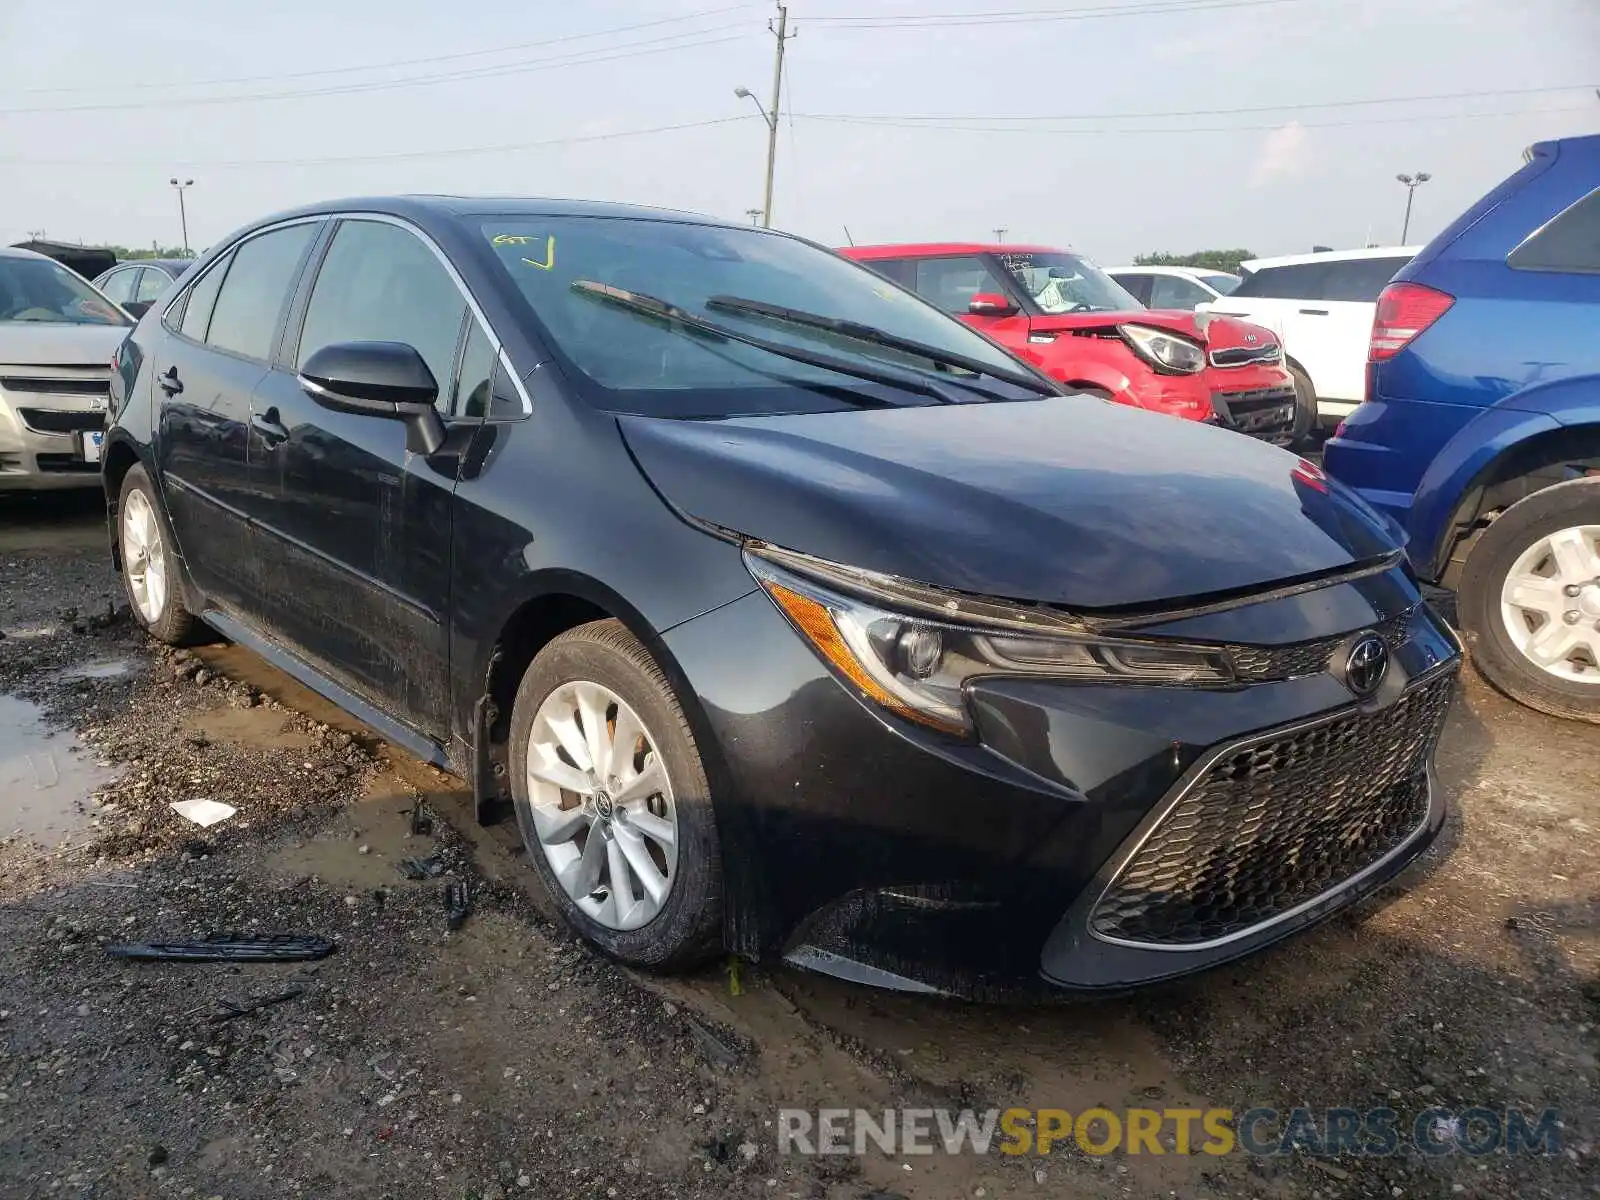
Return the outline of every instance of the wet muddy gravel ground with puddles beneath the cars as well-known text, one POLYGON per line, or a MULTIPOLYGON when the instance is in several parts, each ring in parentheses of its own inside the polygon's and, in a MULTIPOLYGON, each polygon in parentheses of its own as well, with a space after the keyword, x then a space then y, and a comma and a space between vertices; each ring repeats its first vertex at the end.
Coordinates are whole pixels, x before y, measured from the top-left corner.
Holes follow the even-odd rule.
POLYGON ((542 922, 515 830, 478 827, 454 781, 242 650, 157 650, 122 603, 94 498, 0 498, 0 1195, 1600 1195, 1600 728, 1470 672, 1450 827, 1395 886, 1158 990, 973 1006, 624 971, 542 922), (192 798, 238 811, 200 829, 168 806, 192 798), (445 874, 400 872, 430 854, 445 874), (458 931, 450 880, 474 898, 458 931), (230 930, 338 952, 106 952, 230 930), (1549 1157, 778 1152, 781 1107, 1096 1104, 1562 1128, 1549 1157))

